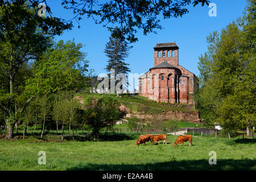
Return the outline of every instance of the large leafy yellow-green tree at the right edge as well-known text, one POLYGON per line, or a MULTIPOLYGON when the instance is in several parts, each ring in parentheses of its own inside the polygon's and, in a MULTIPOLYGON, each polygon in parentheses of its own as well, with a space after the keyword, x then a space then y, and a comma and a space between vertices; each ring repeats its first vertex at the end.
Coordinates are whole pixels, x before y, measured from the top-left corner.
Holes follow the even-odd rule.
MULTIPOLYGON (((197 108, 230 133, 255 125, 255 3, 250 0, 243 18, 222 29, 200 57, 203 83, 197 108)), ((212 36, 213 38, 213 36, 212 36)))

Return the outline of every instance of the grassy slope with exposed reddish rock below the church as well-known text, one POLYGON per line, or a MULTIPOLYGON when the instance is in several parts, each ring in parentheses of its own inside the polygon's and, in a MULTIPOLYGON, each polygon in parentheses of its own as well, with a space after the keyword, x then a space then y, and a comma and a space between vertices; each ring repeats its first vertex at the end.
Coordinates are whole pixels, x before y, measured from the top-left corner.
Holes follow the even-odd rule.
POLYGON ((121 110, 125 111, 126 117, 137 118, 156 118, 156 119, 176 119, 178 121, 187 121, 200 123, 199 113, 194 110, 192 105, 170 104, 148 100, 145 97, 133 94, 76 94, 77 100, 86 105, 89 98, 102 98, 105 96, 115 97, 121 102, 121 110))

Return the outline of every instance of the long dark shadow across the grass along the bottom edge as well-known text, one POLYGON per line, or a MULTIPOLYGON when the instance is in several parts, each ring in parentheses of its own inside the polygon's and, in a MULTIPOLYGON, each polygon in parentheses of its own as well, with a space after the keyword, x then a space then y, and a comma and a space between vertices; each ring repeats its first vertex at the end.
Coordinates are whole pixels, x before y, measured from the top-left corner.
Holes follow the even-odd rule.
POLYGON ((234 160, 234 159, 217 159, 217 164, 210 165, 208 160, 181 160, 162 163, 148 164, 80 164, 79 166, 68 168, 69 171, 208 171, 208 170, 255 170, 256 160, 234 160))

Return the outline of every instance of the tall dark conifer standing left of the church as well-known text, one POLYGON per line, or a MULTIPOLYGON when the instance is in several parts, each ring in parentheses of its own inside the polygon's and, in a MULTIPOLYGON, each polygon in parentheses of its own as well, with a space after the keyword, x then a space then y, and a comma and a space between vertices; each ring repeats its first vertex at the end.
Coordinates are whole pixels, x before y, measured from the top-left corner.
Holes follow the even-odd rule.
MULTIPOLYGON (((115 31, 119 31, 116 27, 115 31)), ((106 56, 109 58, 108 65, 106 65, 106 70, 111 72, 114 70, 114 78, 111 78, 112 73, 110 73, 110 79, 115 79, 115 85, 117 85, 117 75, 122 73, 126 75, 130 72, 130 68, 127 66, 129 64, 125 63, 124 60, 129 55, 130 47, 121 39, 121 38, 114 38, 113 36, 109 37, 109 42, 106 44, 106 48, 104 52, 106 56)), ((127 83, 122 81, 122 86, 126 86, 127 83)), ((119 94, 117 90, 117 94, 119 94)))

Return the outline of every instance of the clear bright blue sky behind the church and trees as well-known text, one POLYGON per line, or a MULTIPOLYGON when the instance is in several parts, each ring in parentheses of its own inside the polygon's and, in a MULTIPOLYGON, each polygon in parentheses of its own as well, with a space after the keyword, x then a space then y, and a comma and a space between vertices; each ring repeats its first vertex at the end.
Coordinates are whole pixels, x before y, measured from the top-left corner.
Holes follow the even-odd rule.
MULTIPOLYGON (((61 6, 60 0, 47 2, 54 16, 66 20, 73 18, 72 11, 65 10, 61 6)), ((158 34, 151 33, 144 36, 142 31, 139 31, 137 33, 139 40, 131 45, 133 48, 125 60, 130 64, 131 73, 146 73, 148 69, 154 67, 153 47, 156 43, 176 42, 179 47, 179 64, 198 76, 199 56, 207 51, 206 37, 210 32, 216 30, 220 32, 233 20, 236 21, 239 16, 242 16, 246 6, 246 0, 210 2, 216 3, 216 17, 209 16, 210 8, 207 5, 203 7, 191 5, 188 7, 189 13, 181 18, 162 19, 160 24, 164 29, 156 30, 158 34)), ((110 32, 102 24, 95 24, 93 19, 86 17, 80 20, 81 28, 77 28, 77 26, 78 24, 74 22, 73 29, 65 31, 56 40, 72 40, 74 38, 76 43, 84 44, 82 51, 88 53, 86 59, 90 61, 89 68, 94 69, 94 75, 106 73, 104 68, 108 58, 105 56, 104 49, 109 41, 110 32)))

